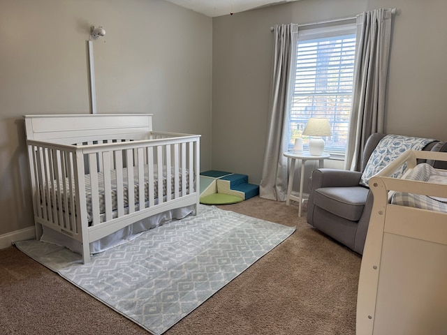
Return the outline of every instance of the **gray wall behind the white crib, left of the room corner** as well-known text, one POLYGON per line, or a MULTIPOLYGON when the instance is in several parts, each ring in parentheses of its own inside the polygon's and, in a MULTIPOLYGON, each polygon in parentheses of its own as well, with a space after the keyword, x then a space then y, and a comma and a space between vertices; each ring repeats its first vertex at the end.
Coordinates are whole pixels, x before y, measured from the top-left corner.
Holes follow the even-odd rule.
POLYGON ((153 113, 159 131, 198 133, 211 168, 212 19, 162 0, 0 1, 0 237, 33 225, 23 114, 153 113))

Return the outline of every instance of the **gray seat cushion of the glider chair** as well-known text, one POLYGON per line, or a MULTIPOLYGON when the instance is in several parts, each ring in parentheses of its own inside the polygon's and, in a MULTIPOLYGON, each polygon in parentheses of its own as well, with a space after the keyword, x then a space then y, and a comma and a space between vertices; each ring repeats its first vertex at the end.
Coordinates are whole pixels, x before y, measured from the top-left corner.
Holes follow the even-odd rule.
POLYGON ((362 186, 317 188, 314 204, 342 218, 359 221, 368 192, 369 188, 362 186))

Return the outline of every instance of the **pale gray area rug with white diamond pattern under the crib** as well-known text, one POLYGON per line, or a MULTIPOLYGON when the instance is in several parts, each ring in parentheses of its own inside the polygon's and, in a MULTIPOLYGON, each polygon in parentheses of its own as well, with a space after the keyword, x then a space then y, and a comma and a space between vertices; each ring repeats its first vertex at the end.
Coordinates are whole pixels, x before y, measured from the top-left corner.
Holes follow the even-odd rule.
MULTIPOLYGON (((89 295, 159 335, 203 304, 295 228, 200 204, 197 216, 94 255, 54 244, 15 245, 89 295)), ((68 302, 69 304, 69 302, 68 302)))

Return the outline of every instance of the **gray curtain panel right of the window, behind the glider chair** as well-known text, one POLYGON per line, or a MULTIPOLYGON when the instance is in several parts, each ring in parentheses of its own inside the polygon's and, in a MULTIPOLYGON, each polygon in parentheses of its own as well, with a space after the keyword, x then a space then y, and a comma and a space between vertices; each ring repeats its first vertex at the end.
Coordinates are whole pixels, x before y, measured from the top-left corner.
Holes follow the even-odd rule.
POLYGON ((383 133, 393 10, 357 15, 356 68, 346 170, 359 170, 369 135, 383 133))

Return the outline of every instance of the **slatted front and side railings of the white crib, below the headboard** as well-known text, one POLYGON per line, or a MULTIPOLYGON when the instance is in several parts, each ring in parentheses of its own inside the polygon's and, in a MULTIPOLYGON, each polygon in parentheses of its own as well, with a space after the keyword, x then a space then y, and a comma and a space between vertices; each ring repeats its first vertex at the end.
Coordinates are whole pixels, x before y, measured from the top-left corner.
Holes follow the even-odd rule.
POLYGON ((89 229, 94 241, 149 209, 152 214, 155 207, 159 212, 178 207, 169 204, 196 197, 199 189, 199 139, 151 132, 149 140, 73 145, 29 140, 36 222, 79 241, 81 230, 89 229), (99 225, 110 230, 96 230, 99 225))

